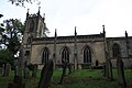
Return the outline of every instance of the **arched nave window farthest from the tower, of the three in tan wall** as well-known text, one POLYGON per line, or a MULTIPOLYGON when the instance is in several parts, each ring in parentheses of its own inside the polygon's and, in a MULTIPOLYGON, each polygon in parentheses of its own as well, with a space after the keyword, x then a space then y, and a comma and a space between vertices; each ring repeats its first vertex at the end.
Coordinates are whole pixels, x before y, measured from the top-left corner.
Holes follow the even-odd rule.
POLYGON ((84 48, 84 63, 91 63, 91 51, 89 46, 84 48))

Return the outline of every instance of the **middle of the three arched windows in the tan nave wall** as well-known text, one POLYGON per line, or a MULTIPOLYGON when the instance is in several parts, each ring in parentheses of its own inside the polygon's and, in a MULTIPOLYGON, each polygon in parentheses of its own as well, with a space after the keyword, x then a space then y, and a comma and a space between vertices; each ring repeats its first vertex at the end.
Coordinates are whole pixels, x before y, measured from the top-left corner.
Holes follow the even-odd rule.
POLYGON ((63 52, 62 52, 62 63, 64 62, 68 62, 69 63, 69 50, 68 47, 64 47, 63 52))

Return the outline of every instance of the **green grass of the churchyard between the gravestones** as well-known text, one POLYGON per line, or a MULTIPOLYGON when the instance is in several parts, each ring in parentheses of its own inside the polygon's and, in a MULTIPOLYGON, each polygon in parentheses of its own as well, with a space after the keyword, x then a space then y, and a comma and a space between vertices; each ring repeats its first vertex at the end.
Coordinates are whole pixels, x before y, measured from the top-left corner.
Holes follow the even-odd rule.
MULTIPOLYGON (((132 87, 132 70, 125 69, 125 80, 128 88, 132 87)), ((36 88, 40 79, 41 70, 37 72, 37 77, 24 79, 26 88, 36 88)), ((102 76, 102 70, 99 69, 82 69, 76 70, 68 75, 63 85, 58 85, 62 76, 62 70, 54 70, 50 88, 119 88, 117 80, 117 69, 113 69, 113 81, 107 80, 102 76)), ((10 72, 9 77, 2 77, 0 74, 0 88, 7 88, 9 82, 13 80, 13 72, 10 72)))

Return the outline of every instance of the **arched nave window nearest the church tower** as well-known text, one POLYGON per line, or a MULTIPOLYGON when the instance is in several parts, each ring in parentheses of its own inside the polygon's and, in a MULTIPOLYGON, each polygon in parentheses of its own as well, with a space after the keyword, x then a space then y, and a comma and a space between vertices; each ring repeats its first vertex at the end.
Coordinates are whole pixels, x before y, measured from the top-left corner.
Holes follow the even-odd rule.
POLYGON ((50 57, 50 51, 47 47, 44 47, 43 53, 42 53, 42 64, 47 63, 50 57))

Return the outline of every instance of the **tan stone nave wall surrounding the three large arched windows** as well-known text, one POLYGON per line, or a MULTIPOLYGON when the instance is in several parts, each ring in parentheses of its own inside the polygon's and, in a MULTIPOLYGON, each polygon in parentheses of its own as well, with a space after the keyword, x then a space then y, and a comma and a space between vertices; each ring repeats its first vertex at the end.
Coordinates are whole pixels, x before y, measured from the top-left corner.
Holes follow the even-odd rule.
MULTIPOLYGON (((77 62, 78 64, 84 64, 84 47, 88 45, 91 48, 91 63, 95 65, 98 59, 99 63, 105 62, 105 42, 103 38, 78 38, 77 40, 77 62)), ((57 40, 56 41, 56 64, 62 64, 62 51, 64 46, 69 48, 69 63, 74 64, 74 52, 75 52, 75 40, 57 40)), ((42 64, 42 52, 43 48, 47 47, 50 50, 50 59, 53 59, 54 54, 54 40, 46 41, 34 41, 32 43, 31 50, 31 63, 32 64, 42 64)))

